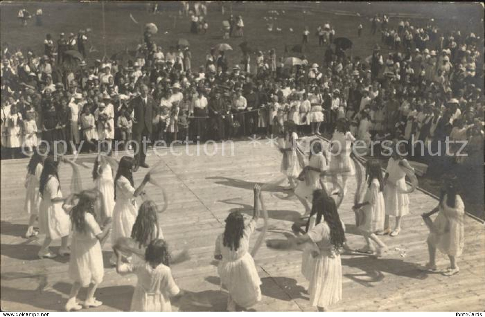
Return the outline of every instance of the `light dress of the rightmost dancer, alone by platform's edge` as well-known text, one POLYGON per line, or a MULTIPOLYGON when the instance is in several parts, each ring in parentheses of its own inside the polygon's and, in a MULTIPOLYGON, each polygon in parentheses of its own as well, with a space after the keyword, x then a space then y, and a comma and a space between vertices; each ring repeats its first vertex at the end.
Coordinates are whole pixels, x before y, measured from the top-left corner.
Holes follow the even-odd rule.
POLYGON ((446 206, 446 200, 445 195, 433 222, 436 232, 430 232, 428 242, 444 254, 460 256, 465 245, 465 205, 459 195, 454 208, 446 206))

